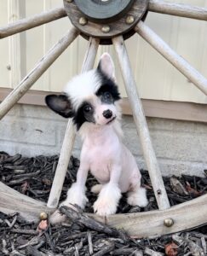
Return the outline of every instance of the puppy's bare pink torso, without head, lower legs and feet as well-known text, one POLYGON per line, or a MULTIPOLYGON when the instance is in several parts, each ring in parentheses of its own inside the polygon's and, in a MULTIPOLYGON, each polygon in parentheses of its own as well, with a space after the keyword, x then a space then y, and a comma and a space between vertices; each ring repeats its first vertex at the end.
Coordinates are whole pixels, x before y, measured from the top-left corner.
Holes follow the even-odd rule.
POLYGON ((140 185, 141 174, 135 158, 120 141, 112 125, 90 130, 83 142, 81 162, 99 183, 118 184, 122 193, 129 191, 137 183, 140 185))

